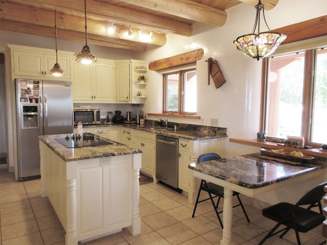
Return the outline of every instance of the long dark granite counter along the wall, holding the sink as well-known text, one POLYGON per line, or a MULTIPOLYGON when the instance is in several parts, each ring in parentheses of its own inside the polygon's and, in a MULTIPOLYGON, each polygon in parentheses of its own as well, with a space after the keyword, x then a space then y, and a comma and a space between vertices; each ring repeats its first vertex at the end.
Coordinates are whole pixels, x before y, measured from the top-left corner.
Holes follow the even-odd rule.
POLYGON ((183 125, 177 124, 177 130, 174 130, 174 125, 170 125, 167 129, 153 126, 150 124, 138 125, 138 124, 111 124, 111 125, 95 125, 95 126, 83 126, 85 128, 92 127, 127 127, 131 129, 143 130, 155 134, 161 134, 176 138, 184 138, 190 140, 201 140, 201 139, 213 139, 213 138, 226 138, 226 128, 199 126, 199 125, 183 125))

